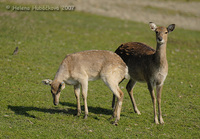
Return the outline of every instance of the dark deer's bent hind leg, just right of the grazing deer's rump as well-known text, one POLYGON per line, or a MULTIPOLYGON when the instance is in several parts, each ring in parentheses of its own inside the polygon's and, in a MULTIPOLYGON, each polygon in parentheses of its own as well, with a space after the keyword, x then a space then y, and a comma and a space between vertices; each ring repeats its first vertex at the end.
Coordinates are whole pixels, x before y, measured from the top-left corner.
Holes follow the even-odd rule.
POLYGON ((130 99, 131 99, 131 102, 132 102, 132 105, 133 105, 133 108, 134 108, 134 111, 135 113, 137 113, 138 115, 140 115, 140 111, 138 110, 137 108, 137 105, 136 105, 136 102, 135 102, 135 99, 133 97, 133 87, 135 86, 136 84, 136 81, 130 79, 128 84, 126 85, 126 90, 130 96, 130 99))

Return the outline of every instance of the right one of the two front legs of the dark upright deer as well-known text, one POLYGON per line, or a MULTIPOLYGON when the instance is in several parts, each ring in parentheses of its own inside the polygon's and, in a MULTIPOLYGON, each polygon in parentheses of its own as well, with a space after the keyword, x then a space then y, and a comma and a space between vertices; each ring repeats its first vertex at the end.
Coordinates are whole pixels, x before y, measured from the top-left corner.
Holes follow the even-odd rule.
POLYGON ((162 118, 162 112, 161 112, 161 93, 162 93, 162 88, 163 88, 163 85, 161 85, 161 86, 157 85, 156 86, 159 120, 160 120, 161 124, 164 124, 164 120, 162 118))

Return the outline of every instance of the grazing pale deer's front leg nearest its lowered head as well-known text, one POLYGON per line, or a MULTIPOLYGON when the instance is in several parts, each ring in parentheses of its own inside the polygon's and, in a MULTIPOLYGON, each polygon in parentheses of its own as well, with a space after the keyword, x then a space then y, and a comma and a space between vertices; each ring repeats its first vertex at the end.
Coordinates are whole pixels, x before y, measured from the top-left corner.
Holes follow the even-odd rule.
POLYGON ((80 105, 80 84, 74 85, 74 93, 77 101, 77 116, 81 114, 81 105, 80 105))

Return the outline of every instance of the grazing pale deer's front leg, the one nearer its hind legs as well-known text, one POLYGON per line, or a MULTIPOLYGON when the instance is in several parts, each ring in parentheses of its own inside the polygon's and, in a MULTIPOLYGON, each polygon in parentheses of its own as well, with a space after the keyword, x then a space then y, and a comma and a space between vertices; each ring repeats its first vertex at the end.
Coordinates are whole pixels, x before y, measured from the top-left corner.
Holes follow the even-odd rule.
POLYGON ((83 82, 81 82, 81 85, 82 85, 82 95, 83 95, 83 101, 84 101, 84 107, 85 107, 84 119, 87 119, 87 116, 88 116, 88 106, 87 106, 88 81, 84 80, 83 82))

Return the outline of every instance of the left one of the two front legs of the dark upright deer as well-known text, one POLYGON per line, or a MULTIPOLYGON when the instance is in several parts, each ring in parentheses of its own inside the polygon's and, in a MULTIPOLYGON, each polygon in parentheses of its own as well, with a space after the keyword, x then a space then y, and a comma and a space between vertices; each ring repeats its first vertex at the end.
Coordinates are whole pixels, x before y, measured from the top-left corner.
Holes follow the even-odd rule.
POLYGON ((157 113, 156 113, 156 97, 155 97, 155 93, 154 93, 154 90, 153 90, 153 85, 148 83, 148 89, 149 89, 149 92, 151 94, 151 99, 152 99, 152 102, 153 102, 154 121, 155 121, 156 124, 159 124, 157 113))

